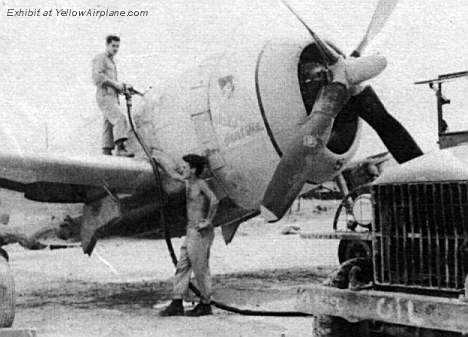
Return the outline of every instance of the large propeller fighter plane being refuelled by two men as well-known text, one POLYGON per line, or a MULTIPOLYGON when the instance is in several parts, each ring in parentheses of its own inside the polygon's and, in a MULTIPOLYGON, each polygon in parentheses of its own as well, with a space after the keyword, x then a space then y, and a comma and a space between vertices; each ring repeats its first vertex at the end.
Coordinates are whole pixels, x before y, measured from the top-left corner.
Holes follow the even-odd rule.
POLYGON ((260 212, 280 219, 308 184, 333 179, 354 156, 362 119, 402 163, 421 155, 406 130, 362 82, 386 65, 361 56, 396 1, 380 1, 362 42, 350 57, 322 41, 298 17, 310 40, 273 40, 253 52, 227 50, 150 90, 134 112, 136 132, 159 163, 130 136, 136 159, 0 153, 0 187, 41 202, 83 203, 81 242, 91 253, 99 232, 150 217, 171 235, 185 223, 185 189, 168 170, 188 153, 206 155, 205 178, 221 200, 215 224, 226 242, 260 212), (140 158, 138 158, 140 157, 140 158), (158 193, 161 184, 162 192, 158 193))

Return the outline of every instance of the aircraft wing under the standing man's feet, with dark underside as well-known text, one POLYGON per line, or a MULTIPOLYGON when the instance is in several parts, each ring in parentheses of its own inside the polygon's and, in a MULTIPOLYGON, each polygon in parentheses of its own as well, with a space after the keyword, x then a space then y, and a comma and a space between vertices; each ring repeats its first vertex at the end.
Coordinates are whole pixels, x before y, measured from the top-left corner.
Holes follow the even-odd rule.
POLYGON ((84 202, 90 193, 132 193, 153 177, 143 159, 106 155, 0 152, 0 187, 44 202, 84 202))

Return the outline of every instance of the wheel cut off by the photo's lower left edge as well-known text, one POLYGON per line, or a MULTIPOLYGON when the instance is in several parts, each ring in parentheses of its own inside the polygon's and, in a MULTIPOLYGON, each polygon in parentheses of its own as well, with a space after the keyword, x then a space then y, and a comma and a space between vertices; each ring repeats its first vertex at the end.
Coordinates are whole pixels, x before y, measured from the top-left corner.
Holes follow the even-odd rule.
POLYGON ((0 327, 9 328, 15 319, 15 281, 8 265, 8 254, 0 248, 0 327))

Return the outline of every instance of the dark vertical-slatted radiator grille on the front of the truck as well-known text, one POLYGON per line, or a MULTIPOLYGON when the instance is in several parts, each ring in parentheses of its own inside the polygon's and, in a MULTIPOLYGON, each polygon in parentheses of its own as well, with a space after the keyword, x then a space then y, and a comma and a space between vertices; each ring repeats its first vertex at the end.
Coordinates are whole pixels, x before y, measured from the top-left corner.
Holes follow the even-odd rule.
POLYGON ((468 271, 468 181, 372 188, 374 280, 462 291, 468 271))

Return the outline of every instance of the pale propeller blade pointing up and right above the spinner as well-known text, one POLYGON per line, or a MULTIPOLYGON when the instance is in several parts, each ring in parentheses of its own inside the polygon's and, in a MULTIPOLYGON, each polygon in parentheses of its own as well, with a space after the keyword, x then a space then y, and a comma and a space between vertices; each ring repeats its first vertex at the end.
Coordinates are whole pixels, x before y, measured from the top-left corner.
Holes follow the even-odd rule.
POLYGON ((395 9, 397 3, 398 0, 379 0, 375 8, 374 14, 372 15, 372 19, 369 23, 369 26, 367 27, 366 34, 362 38, 357 48, 351 53, 351 56, 361 56, 362 52, 367 47, 369 42, 371 42, 385 26, 385 23, 387 22, 388 18, 395 9))

